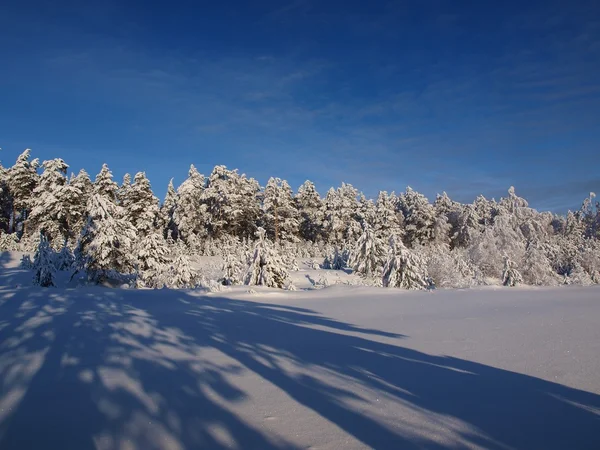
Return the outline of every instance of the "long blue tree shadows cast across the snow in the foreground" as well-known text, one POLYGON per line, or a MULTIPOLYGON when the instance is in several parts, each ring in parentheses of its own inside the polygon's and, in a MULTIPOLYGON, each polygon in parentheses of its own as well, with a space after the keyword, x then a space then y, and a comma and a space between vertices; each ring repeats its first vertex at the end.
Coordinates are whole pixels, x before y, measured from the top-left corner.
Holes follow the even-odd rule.
POLYGON ((367 447, 600 448, 600 396, 401 335, 184 291, 50 292, 0 294, 2 449, 297 448, 233 412, 253 405, 248 376, 367 447), (380 400, 445 420, 454 440, 369 412, 380 400))

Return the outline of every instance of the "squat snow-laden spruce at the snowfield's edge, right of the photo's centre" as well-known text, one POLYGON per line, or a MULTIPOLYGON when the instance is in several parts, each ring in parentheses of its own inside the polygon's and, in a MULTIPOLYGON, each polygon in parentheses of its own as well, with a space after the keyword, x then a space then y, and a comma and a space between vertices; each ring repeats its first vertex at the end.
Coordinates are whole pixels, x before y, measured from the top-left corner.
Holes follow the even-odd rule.
POLYGON ((427 289, 431 281, 425 260, 407 249, 402 241, 390 238, 387 261, 383 267, 384 287, 402 289, 427 289))

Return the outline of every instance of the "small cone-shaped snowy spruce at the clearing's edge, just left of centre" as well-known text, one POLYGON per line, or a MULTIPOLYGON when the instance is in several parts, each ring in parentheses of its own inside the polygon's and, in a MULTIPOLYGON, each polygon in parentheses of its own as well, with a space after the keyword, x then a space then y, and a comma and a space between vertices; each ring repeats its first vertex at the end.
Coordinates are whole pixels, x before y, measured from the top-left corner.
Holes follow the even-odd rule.
POLYGON ((288 279, 285 263, 267 240, 264 228, 256 231, 257 241, 248 260, 244 284, 283 289, 288 279))

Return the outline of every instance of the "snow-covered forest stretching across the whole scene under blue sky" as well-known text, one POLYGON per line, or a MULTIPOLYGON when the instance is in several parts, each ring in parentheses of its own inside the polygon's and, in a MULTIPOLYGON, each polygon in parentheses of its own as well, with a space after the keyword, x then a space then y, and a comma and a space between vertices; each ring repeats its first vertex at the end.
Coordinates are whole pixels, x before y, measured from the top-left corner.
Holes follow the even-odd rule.
POLYGON ((600 283, 593 193, 561 216, 530 208, 512 187, 469 204, 446 193, 431 203, 410 187, 373 200, 344 183, 322 197, 310 181, 294 192, 279 178, 261 187, 225 166, 205 176, 192 165, 160 202, 143 172, 119 184, 107 165, 94 181, 68 170, 29 149, 0 166, 0 250, 25 252, 21 265, 41 286, 67 272, 81 283, 294 290, 300 260, 405 289, 600 283), (216 257, 214 267, 195 267, 200 257, 216 257))

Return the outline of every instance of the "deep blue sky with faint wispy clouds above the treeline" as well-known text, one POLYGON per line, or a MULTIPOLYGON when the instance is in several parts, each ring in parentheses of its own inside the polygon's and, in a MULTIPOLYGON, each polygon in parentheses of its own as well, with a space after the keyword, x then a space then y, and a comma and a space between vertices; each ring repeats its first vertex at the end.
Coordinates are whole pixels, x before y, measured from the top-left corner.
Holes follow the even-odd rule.
POLYGON ((597 1, 8 0, 0 55, 5 166, 160 196, 190 163, 563 212, 600 191, 597 1))

